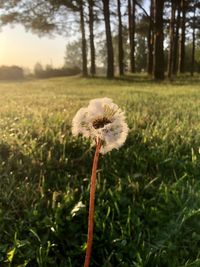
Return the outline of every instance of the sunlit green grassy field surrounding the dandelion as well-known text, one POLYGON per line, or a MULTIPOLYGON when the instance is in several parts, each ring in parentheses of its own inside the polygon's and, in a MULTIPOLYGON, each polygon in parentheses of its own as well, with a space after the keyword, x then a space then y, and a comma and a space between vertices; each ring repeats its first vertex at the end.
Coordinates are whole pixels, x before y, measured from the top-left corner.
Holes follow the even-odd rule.
POLYGON ((71 121, 104 96, 130 133, 100 158, 91 267, 200 266, 200 80, 76 77, 0 83, 1 267, 83 266, 94 150, 71 121))

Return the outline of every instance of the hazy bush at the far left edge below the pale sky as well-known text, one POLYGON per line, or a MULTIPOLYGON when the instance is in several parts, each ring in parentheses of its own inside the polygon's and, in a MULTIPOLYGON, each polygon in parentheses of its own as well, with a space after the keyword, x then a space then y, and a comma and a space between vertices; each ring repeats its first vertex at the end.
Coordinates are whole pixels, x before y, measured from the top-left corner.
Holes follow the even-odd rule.
POLYGON ((1 66, 0 80, 21 80, 24 79, 24 71, 18 66, 1 66))

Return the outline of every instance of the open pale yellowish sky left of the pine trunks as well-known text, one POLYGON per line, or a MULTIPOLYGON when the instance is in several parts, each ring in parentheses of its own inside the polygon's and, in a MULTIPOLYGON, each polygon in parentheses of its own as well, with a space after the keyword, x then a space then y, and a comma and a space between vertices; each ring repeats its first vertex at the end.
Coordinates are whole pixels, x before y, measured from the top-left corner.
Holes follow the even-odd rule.
POLYGON ((47 64, 62 67, 66 44, 67 39, 61 36, 38 37, 25 31, 23 26, 6 26, 0 31, 0 65, 33 69, 39 62, 44 67, 47 64))

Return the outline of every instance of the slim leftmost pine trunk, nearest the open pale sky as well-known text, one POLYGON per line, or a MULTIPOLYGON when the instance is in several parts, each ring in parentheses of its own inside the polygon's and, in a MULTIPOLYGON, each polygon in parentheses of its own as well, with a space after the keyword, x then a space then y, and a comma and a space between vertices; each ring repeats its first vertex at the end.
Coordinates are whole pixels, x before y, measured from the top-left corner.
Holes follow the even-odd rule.
POLYGON ((84 21, 84 11, 83 11, 83 1, 80 1, 80 28, 82 35, 82 74, 83 77, 88 76, 87 71, 87 46, 85 38, 85 21, 84 21))

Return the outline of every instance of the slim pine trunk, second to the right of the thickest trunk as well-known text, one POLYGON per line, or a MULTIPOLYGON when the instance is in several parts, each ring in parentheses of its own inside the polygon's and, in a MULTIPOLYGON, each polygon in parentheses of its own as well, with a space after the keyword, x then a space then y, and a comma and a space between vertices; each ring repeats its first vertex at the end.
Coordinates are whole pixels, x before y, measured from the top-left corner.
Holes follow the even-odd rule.
POLYGON ((176 5, 177 16, 176 16, 176 29, 174 36, 174 56, 173 56, 173 75, 177 74, 178 71, 178 44, 179 44, 179 29, 180 29, 180 2, 177 2, 176 5))

